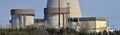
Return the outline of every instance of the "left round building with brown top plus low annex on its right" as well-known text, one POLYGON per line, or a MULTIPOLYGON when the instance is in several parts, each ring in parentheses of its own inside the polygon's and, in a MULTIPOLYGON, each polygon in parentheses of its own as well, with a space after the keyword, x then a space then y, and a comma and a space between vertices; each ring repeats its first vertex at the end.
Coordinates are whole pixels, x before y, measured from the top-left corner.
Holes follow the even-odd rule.
POLYGON ((11 9, 10 28, 25 28, 26 26, 43 25, 44 19, 35 19, 34 9, 11 9))

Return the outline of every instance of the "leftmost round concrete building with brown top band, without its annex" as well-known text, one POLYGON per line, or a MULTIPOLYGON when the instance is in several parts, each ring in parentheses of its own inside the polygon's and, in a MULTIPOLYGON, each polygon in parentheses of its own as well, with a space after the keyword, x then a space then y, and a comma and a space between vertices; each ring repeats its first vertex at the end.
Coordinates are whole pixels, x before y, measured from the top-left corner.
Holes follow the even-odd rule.
POLYGON ((20 28, 34 24, 34 14, 33 9, 11 9, 11 27, 20 28))

